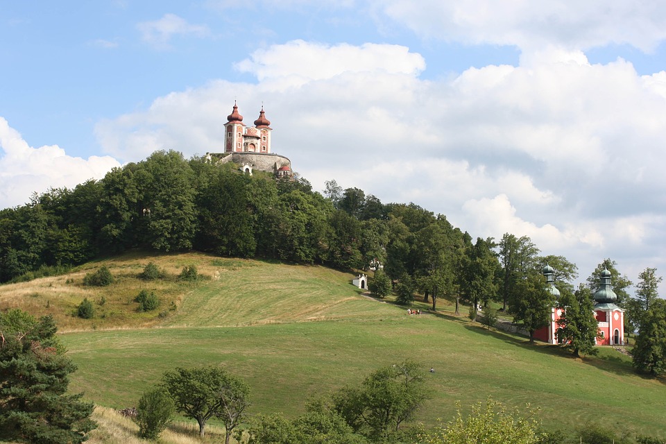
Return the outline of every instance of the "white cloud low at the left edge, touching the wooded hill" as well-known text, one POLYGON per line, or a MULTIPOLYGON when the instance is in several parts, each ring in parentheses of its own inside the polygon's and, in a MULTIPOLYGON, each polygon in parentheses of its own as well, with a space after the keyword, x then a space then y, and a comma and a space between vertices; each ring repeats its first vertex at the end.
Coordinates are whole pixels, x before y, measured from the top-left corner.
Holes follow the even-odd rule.
POLYGON ((26 203, 26 196, 49 188, 76 187, 101 179, 119 162, 108 156, 71 157, 57 145, 33 148, 0 117, 0 207, 26 203))

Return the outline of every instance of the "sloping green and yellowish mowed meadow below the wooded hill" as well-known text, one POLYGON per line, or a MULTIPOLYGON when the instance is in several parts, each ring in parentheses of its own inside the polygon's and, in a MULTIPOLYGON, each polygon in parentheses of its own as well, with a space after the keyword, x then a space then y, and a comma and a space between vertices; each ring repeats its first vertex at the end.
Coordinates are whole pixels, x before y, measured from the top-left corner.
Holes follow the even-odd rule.
POLYGON ((546 429, 599 422, 666 437, 666 385, 635 374, 620 352, 602 348, 598 357, 573 359, 556 346, 529 345, 454 316, 445 300, 436 314, 417 302, 423 314, 407 316, 391 298, 361 293, 352 278, 319 266, 137 252, 69 275, 0 286, 0 309, 53 314, 78 365, 71 391, 84 391, 103 407, 134 406, 176 366, 212 364, 250 384, 251 413, 296 416, 309 396, 359 384, 380 366, 411 359, 435 370, 427 373, 430 399, 417 415, 427 426, 452 419, 456 401, 468 406, 490 396, 511 407, 540 408, 546 429), (148 262, 167 278, 137 279, 148 262), (103 264, 114 284, 84 287, 85 273, 103 264), (205 279, 176 280, 188 265, 205 279), (160 298, 157 310, 136 311, 141 289, 160 298), (83 298, 94 301, 95 318, 73 315, 83 298))

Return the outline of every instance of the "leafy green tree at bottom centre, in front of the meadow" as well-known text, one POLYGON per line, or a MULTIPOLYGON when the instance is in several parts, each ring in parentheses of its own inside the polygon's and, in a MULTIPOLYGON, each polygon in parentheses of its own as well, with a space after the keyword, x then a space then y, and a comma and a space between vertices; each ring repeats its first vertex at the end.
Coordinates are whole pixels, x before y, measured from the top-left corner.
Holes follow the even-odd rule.
POLYGON ((426 399, 422 366, 404 361, 375 370, 361 386, 347 386, 335 393, 333 409, 356 432, 382 441, 398 433, 426 399))

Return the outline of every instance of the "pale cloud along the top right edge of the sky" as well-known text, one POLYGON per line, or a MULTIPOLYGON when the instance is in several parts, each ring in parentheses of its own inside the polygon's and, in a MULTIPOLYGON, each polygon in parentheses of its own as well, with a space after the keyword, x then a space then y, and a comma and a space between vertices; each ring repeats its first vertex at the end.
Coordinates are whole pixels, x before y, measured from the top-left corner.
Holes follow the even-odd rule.
POLYGON ((545 44, 588 49, 630 44, 653 50, 666 38, 666 5, 651 0, 372 0, 380 14, 428 39, 467 44, 545 44))

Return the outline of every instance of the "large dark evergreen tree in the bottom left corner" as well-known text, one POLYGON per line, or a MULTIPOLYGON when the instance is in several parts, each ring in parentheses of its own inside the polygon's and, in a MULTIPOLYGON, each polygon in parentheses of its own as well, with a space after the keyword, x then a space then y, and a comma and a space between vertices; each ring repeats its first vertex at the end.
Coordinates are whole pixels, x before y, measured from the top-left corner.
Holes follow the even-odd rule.
POLYGON ((0 441, 81 443, 96 427, 92 403, 67 394, 76 366, 65 356, 51 316, 0 313, 0 441))

